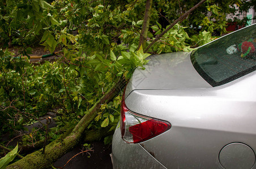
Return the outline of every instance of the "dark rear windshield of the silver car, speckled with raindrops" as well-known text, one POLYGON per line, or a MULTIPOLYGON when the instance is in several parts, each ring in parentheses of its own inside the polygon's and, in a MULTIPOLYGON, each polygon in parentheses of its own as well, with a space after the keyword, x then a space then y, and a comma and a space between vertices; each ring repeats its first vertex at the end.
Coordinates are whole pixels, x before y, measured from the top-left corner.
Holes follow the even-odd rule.
POLYGON ((228 34, 191 54, 197 72, 219 86, 256 70, 256 24, 228 34))

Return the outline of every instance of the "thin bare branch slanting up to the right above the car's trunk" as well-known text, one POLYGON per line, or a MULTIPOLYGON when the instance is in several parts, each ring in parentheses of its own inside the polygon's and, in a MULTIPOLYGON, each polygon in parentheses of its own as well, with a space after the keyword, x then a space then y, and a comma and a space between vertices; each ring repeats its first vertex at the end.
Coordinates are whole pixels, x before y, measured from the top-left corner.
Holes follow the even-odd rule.
POLYGON ((148 47, 144 50, 144 53, 146 53, 151 46, 156 43, 165 33, 168 32, 168 30, 170 30, 174 25, 176 25, 179 21, 184 20, 187 16, 189 16, 189 14, 194 11, 196 8, 198 8, 204 1, 206 0, 202 0, 200 1, 197 5, 195 5, 193 8, 191 8, 189 11, 187 11, 184 15, 182 15, 181 17, 179 17, 176 21, 174 21, 167 29, 165 29, 162 33, 160 33, 159 35, 156 36, 156 38, 150 43, 150 45, 148 45, 148 47))

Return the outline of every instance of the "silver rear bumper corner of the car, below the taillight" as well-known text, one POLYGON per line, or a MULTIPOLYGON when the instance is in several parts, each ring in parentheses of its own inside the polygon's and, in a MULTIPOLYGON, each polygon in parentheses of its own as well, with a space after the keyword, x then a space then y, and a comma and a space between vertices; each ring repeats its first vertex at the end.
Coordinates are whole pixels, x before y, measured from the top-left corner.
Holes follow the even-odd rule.
POLYGON ((140 144, 127 144, 116 128, 112 141, 113 168, 166 168, 140 144))

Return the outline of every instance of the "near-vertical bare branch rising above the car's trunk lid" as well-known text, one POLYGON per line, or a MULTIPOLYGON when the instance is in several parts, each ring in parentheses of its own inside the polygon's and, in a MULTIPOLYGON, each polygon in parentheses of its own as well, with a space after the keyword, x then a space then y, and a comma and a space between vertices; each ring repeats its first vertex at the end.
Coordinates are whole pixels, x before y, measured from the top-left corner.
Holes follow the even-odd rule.
POLYGON ((142 31, 140 32, 140 37, 139 37, 138 50, 140 46, 144 47, 146 45, 148 29, 150 28, 152 1, 153 0, 147 0, 146 2, 146 9, 145 9, 145 15, 143 19, 142 31))

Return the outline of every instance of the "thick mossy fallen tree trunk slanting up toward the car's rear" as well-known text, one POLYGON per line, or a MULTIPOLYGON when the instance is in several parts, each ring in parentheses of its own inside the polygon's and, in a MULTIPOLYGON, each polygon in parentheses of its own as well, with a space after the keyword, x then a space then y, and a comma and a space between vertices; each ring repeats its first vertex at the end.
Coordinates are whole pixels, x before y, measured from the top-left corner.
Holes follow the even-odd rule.
POLYGON ((26 155, 19 161, 10 164, 7 168, 47 168, 51 167, 52 164, 62 155, 69 152, 70 149, 74 148, 82 139, 84 131, 88 125, 95 119, 100 105, 108 103, 115 96, 117 96, 122 88, 125 86, 125 81, 120 79, 106 94, 101 97, 99 101, 92 106, 86 115, 76 124, 72 132, 64 139, 58 139, 48 144, 45 147, 45 153, 42 154, 42 149, 26 155))

